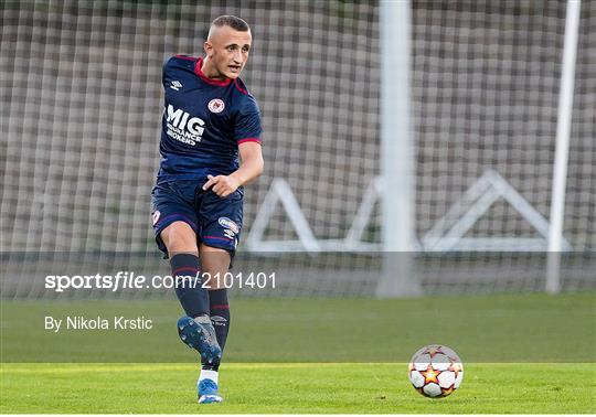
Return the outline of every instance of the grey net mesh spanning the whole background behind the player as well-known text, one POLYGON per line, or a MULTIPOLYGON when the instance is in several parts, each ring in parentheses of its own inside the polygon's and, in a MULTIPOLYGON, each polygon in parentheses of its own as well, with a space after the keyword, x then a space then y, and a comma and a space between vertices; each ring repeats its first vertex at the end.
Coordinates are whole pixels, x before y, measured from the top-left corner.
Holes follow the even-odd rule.
MULTIPOLYGON (((178 53, 198 56, 209 23, 224 13, 251 23, 254 49, 243 79, 259 101, 265 131, 266 171, 246 193, 245 236, 281 178, 315 236, 341 239, 380 175, 375 3, 4 1, 1 8, 2 253, 132 253, 135 265, 167 271, 149 205, 161 65, 178 53)), ((535 249, 524 239, 542 238, 535 220, 549 217, 565 8, 564 1, 412 2, 418 248, 428 249, 429 231, 487 172, 533 209, 520 212, 500 195, 461 236, 483 238, 491 250, 511 238, 518 255, 418 254, 428 291, 543 288, 543 256, 524 253, 535 249)), ((570 289, 594 289, 585 260, 596 248, 595 32, 596 3, 584 2, 564 222, 573 248, 564 261, 570 289)), ((374 243, 382 220, 377 207, 371 212, 362 239, 374 243)), ((284 211, 269 218, 265 236, 296 238, 284 211)), ((266 264, 244 253, 245 265, 266 264)), ((265 259, 295 271, 276 293, 370 295, 380 256, 265 259)), ((13 284, 4 295, 43 293, 22 281, 43 267, 7 259, 14 265, 4 281, 13 284)))

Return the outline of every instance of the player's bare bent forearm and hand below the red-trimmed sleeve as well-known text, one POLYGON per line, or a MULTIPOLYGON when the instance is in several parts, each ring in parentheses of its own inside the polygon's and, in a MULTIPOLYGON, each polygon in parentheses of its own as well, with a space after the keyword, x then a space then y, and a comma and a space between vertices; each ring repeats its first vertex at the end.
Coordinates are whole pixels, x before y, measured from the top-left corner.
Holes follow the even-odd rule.
POLYGON ((260 143, 244 142, 238 145, 240 168, 230 175, 207 175, 203 190, 213 191, 221 197, 232 194, 238 186, 245 185, 263 173, 263 152, 260 143))

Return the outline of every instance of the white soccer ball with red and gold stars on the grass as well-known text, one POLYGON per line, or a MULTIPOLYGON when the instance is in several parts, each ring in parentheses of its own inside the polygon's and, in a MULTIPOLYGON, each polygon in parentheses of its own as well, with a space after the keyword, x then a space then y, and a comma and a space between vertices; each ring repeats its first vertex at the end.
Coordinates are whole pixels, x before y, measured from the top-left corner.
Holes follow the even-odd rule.
POLYGON ((407 375, 418 393, 425 397, 441 398, 461 385, 464 364, 453 349, 429 344, 414 353, 407 375))

